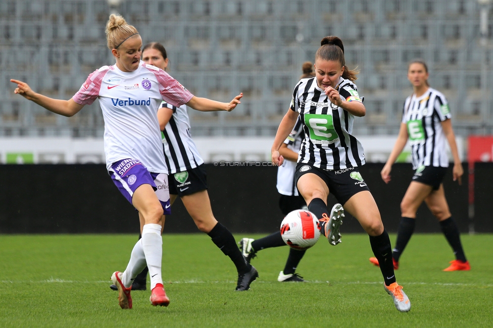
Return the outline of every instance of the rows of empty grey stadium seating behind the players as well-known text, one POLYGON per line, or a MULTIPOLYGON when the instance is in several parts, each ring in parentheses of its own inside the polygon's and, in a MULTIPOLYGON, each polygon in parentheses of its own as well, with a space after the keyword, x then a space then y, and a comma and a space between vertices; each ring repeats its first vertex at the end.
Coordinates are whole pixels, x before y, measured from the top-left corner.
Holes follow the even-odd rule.
POLYGON ((367 116, 357 135, 397 134, 412 92, 407 64, 418 57, 451 103, 456 134, 491 134, 493 27, 481 38, 480 8, 466 0, 2 0, 0 137, 103 135, 97 102, 73 118, 52 115, 15 96, 9 79, 69 99, 89 73, 114 63, 104 33, 111 11, 144 43, 163 43, 169 73, 195 95, 244 93, 232 113, 189 111, 195 136, 274 135, 301 64, 326 35, 343 40, 347 65, 361 71, 367 116))

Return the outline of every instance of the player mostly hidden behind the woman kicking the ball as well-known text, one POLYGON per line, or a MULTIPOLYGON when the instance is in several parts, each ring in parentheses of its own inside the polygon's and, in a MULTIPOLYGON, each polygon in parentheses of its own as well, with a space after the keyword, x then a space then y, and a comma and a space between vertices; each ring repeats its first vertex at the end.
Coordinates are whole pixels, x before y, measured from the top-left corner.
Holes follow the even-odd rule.
MULTIPOLYGON (((315 76, 313 73, 312 62, 303 63, 302 71, 303 75, 300 79, 313 78, 315 76)), ((308 209, 305 199, 298 193, 298 188, 296 188, 294 183, 294 170, 296 168, 298 152, 300 151, 303 140, 305 140, 305 131, 303 129, 303 123, 298 119, 294 124, 291 133, 279 148, 279 153, 287 159, 282 166, 277 168, 277 191, 280 194, 279 208, 283 215, 286 215, 295 209, 308 209)), ((269 236, 257 240, 253 238, 242 238, 238 244, 240 245, 243 256, 248 262, 256 257, 257 252, 262 249, 286 246, 279 230, 269 236)), ((284 270, 279 272, 279 276, 277 277, 278 282, 304 281, 303 277, 295 273, 295 270, 305 255, 305 252, 306 250, 289 249, 289 255, 284 270)))

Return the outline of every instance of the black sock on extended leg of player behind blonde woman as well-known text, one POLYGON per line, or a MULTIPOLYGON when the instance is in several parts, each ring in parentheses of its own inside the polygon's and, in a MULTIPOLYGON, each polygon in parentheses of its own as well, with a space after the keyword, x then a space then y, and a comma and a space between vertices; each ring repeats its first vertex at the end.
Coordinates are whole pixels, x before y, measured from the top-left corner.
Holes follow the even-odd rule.
POLYGON ((208 235, 224 255, 229 256, 231 261, 233 261, 238 274, 244 274, 250 270, 251 265, 243 258, 241 251, 238 249, 238 246, 236 246, 233 235, 231 235, 226 227, 218 222, 208 235))

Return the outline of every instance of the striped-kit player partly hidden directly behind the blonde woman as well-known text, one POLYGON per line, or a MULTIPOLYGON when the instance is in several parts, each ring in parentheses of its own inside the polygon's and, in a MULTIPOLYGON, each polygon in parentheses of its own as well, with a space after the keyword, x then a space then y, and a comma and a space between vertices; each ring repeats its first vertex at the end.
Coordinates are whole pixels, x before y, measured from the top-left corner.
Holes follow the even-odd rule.
MULTIPOLYGON (((143 47, 142 60, 162 70, 166 70, 169 63, 166 49, 158 42, 148 43, 143 47)), ((214 244, 235 264, 238 271, 236 290, 248 290, 258 277, 258 272, 250 263, 245 262, 231 232, 217 222, 212 213, 204 160, 190 136, 186 106, 177 107, 163 101, 158 110, 158 120, 170 176, 171 204, 177 197, 181 198, 197 228, 208 234, 214 244)), ((145 281, 146 272, 143 272, 143 276, 145 281)))

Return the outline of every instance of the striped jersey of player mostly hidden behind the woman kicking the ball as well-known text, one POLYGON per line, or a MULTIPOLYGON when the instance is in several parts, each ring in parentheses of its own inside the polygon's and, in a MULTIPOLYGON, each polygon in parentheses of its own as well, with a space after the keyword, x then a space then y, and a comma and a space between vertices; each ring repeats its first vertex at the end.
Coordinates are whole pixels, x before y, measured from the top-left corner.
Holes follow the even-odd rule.
MULTIPOLYGON (((305 140, 305 130, 303 123, 298 117, 289 136, 284 140, 287 148, 298 153, 305 140)), ((294 171, 296 162, 285 159, 280 167, 277 168, 277 191, 281 195, 298 196, 298 188, 294 185, 294 171)))

